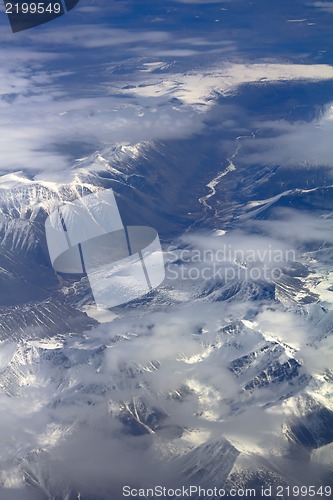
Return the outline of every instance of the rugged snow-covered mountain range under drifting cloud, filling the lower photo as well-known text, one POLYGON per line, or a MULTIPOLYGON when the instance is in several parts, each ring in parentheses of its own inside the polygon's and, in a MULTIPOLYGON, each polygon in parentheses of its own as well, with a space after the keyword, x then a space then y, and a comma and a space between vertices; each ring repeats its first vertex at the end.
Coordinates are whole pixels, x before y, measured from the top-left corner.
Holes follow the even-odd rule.
POLYGON ((107 148, 76 161, 66 184, 0 178, 2 498, 332 483, 331 187, 310 173, 272 194, 283 171, 250 168, 241 182, 236 159, 219 177, 211 146, 107 148), (44 221, 56 203, 110 187, 125 224, 160 232, 167 278, 101 322, 87 279, 52 270, 44 221), (290 218, 308 224, 302 237, 290 218), (276 279, 248 279, 234 250, 252 248, 261 269, 265 245, 296 259, 276 279), (216 265, 241 279, 203 279, 216 265))

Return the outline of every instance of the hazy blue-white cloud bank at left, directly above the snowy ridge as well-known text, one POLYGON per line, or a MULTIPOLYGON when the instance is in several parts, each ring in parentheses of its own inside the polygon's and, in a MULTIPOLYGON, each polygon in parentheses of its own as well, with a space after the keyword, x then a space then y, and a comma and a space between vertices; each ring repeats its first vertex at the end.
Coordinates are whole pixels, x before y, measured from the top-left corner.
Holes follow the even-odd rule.
POLYGON ((18 68, 13 62, 4 64, 0 70, 3 173, 30 170, 47 177, 71 167, 73 144, 93 153, 114 143, 184 137, 202 126, 192 109, 177 109, 159 99, 138 103, 112 95, 72 97, 61 82, 66 73, 20 63, 18 68))

